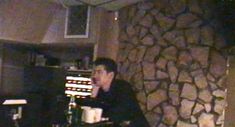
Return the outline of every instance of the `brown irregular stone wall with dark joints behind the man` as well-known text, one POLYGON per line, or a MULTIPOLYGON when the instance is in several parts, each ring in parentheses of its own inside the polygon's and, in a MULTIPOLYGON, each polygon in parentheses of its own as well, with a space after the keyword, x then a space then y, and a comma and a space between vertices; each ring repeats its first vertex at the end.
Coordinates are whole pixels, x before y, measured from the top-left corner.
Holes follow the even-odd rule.
POLYGON ((155 127, 220 127, 225 41, 200 0, 140 2, 120 12, 120 77, 155 127))

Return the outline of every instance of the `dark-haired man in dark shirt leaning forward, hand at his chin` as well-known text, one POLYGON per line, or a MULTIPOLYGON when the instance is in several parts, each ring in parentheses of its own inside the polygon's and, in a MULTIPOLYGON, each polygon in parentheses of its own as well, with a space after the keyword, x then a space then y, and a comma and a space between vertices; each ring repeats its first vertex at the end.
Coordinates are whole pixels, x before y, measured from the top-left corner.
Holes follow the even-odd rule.
POLYGON ((94 97, 115 127, 128 124, 130 127, 149 127, 130 84, 117 80, 117 64, 109 58, 98 58, 94 62, 92 80, 97 92, 94 97))

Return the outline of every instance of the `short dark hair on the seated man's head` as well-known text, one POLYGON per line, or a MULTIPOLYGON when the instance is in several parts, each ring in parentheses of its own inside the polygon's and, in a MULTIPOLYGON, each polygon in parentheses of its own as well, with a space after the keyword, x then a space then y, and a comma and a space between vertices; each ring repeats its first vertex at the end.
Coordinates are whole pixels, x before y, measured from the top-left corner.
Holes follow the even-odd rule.
POLYGON ((107 72, 114 72, 114 75, 117 74, 117 63, 113 59, 99 57, 95 60, 94 65, 103 65, 107 72))

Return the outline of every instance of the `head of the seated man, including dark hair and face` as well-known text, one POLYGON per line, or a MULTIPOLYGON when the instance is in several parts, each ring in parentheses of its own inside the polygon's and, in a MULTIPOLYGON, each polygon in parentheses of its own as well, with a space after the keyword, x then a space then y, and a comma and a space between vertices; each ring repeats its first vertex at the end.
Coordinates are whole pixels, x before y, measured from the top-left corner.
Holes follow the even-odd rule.
POLYGON ((110 58, 97 58, 94 62, 92 74, 93 82, 96 86, 102 87, 104 90, 109 89, 112 80, 117 73, 117 64, 110 58))

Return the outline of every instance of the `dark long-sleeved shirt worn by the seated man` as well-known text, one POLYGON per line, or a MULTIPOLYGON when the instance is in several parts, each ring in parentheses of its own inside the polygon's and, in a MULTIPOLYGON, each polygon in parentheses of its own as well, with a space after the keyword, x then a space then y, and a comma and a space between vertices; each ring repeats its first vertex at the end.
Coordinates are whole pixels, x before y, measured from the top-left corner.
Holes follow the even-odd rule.
POLYGON ((100 89, 97 101, 103 109, 103 116, 109 117, 117 125, 130 121, 131 127, 149 127, 134 91, 126 81, 113 81, 108 92, 100 89))

